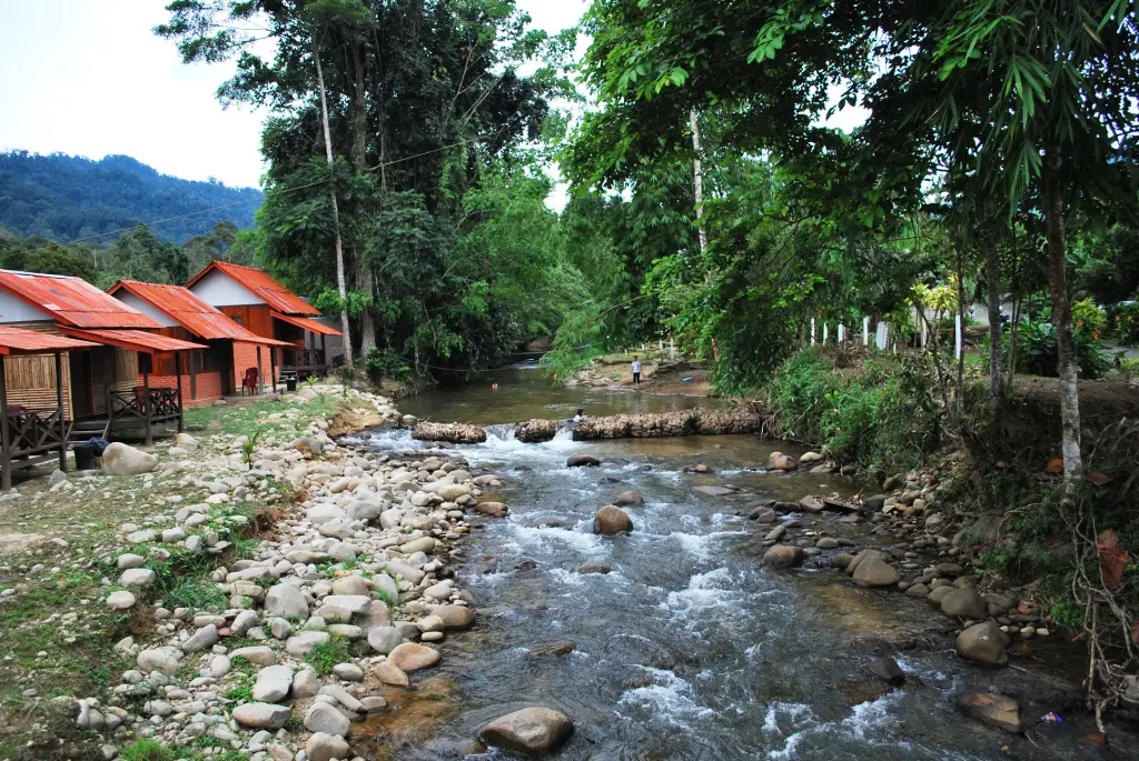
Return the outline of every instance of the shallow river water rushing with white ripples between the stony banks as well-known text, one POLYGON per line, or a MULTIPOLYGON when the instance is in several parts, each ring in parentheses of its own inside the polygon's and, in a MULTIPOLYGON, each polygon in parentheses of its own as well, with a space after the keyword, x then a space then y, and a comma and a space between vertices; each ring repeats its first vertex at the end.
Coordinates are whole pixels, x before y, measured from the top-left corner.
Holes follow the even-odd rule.
MULTIPOLYGON (((563 416, 567 405, 584 403, 598 414, 636 403, 633 394, 597 389, 567 397, 536 373, 499 378, 497 392, 434 392, 401 410, 501 423, 563 416)), ((640 399, 642 410, 696 402, 640 399)), ((398 431, 377 431, 361 444, 377 452, 420 446, 398 431)), ((1029 725, 1059 708, 1060 690, 1031 653, 1000 672, 965 665, 950 636, 920 634, 945 626, 924 601, 861 590, 831 571, 762 568, 765 528, 746 519, 756 503, 857 488, 834 475, 768 474, 761 466, 773 448, 796 452, 752 437, 574 442, 565 431, 524 445, 506 425, 492 429, 486 444, 456 447, 473 466, 502 474, 497 496, 510 515, 482 521, 462 545, 459 576, 478 601, 480 624, 449 638, 434 675, 417 676, 421 701, 404 698, 407 706, 372 727, 385 742, 371 755, 503 758, 473 738, 487 720, 530 705, 574 719, 574 734, 552 756, 566 760, 967 760, 1007 758, 1006 746, 1026 759, 1133 753, 1082 739, 1090 731, 1084 720, 1041 726, 1025 739, 966 719, 952 702, 966 689, 1019 696, 1029 725), (595 455, 603 465, 567 469, 572 454, 595 455), (697 463, 714 474, 686 471, 697 463), (519 465, 530 470, 515 470, 519 465), (739 491, 706 497, 693 491, 702 483, 739 491), (592 535, 596 510, 626 489, 646 499, 626 508, 636 530, 592 535), (582 563, 612 571, 580 573, 582 563), (907 686, 863 694, 875 684, 866 672, 874 655, 855 640, 909 635, 934 645, 896 655, 907 686), (573 643, 568 654, 548 652, 555 644, 567 648, 566 642, 573 643)), ((855 533, 863 529, 834 516, 814 520, 817 528, 865 541, 855 533)))

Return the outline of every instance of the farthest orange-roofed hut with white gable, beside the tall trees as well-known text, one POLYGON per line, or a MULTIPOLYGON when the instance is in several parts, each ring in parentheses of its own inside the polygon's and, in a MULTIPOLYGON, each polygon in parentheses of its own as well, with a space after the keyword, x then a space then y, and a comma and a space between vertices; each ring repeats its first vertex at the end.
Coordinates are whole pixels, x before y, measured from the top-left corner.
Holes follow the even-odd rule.
MULTIPOLYGON (((186 287, 251 332, 288 344, 289 347, 282 350, 282 371, 303 377, 331 369, 333 357, 328 356, 326 338, 341 336, 341 332, 314 320, 320 312, 269 273, 228 262, 212 262, 186 287)), ((240 377, 246 367, 260 366, 261 348, 257 347, 256 354, 244 355, 235 370, 240 377)))

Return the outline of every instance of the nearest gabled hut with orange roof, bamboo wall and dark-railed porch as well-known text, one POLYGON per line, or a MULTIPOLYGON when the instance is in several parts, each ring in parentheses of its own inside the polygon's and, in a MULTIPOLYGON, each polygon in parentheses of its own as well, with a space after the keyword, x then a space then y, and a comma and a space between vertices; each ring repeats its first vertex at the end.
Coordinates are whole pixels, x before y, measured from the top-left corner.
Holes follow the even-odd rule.
POLYGON ((141 431, 149 442, 155 424, 181 430, 181 387, 151 384, 153 359, 205 346, 159 336, 154 320, 80 278, 34 272, 0 270, 0 325, 98 344, 68 351, 58 378, 42 355, 13 357, 5 371, 11 404, 43 406, 63 386, 71 440, 141 431))

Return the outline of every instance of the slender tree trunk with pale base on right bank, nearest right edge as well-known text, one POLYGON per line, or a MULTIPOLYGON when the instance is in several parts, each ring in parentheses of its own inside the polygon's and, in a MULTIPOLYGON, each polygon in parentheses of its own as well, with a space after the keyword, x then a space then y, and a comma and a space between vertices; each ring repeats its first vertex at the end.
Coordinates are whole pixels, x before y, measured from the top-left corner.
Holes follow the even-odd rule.
POLYGON ((1044 237, 1048 240, 1048 290, 1052 300, 1052 326, 1059 353, 1060 450, 1064 483, 1071 490, 1083 470, 1080 454, 1079 361, 1072 337, 1072 305, 1067 293, 1067 251, 1064 240, 1064 198, 1060 160, 1055 150, 1044 154, 1044 237))

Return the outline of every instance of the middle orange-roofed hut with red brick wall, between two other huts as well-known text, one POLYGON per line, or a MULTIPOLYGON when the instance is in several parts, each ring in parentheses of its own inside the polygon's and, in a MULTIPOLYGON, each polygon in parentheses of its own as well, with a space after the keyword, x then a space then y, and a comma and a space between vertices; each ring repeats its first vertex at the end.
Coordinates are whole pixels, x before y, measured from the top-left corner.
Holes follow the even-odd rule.
MULTIPOLYGON (((241 357, 251 351, 255 355, 259 347, 265 347, 269 378, 274 379, 277 351, 293 348, 286 341, 252 333, 182 286, 120 280, 107 292, 162 325, 161 334, 208 347, 187 355, 189 373, 180 379, 187 406, 213 404, 236 394, 238 373, 245 369, 241 357)), ((177 375, 173 358, 157 359, 154 375, 155 383, 173 384, 177 375)))

